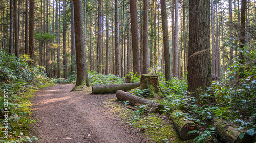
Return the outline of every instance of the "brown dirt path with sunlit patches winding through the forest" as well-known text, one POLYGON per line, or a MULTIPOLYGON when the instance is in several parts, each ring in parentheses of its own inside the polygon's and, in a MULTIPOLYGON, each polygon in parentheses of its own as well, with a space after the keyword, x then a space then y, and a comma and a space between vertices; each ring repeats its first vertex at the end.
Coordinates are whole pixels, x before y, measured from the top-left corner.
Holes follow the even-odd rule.
POLYGON ((70 92, 73 84, 57 84, 36 92, 33 99, 38 142, 145 142, 104 108, 115 94, 70 92))

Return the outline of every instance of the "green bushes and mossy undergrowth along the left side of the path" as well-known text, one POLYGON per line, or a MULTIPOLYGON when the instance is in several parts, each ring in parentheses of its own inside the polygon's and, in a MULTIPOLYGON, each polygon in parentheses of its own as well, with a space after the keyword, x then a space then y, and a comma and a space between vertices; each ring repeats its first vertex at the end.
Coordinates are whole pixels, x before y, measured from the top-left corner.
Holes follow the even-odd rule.
POLYGON ((28 55, 16 58, 0 51, 0 142, 31 142, 32 96, 36 89, 53 85, 44 67, 29 66, 28 55))

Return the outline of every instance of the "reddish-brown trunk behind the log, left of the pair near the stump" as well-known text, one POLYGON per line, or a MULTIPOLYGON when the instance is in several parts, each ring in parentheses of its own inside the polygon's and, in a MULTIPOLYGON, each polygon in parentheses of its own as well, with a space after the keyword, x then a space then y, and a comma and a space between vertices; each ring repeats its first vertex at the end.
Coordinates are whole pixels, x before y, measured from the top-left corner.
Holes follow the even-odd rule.
POLYGON ((139 28, 136 0, 130 0, 131 26, 132 28, 132 50, 133 50, 133 72, 140 72, 140 48, 139 48, 139 28))

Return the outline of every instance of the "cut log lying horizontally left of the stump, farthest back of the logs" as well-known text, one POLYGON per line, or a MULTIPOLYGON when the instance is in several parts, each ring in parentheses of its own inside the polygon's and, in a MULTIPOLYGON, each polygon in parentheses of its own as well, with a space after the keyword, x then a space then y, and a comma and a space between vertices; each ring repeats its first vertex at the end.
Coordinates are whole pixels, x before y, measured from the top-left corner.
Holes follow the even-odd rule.
POLYGON ((111 85, 99 85, 92 87, 92 94, 105 94, 105 93, 116 93, 118 90, 129 91, 137 88, 140 83, 124 83, 124 84, 111 84, 111 85))

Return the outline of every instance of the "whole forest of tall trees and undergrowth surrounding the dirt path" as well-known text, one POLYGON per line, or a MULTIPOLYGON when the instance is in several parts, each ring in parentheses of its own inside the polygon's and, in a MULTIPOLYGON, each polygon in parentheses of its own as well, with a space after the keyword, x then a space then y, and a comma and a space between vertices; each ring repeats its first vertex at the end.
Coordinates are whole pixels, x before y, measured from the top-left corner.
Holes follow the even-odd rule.
POLYGON ((38 140, 41 89, 72 84, 94 96, 138 82, 104 104, 150 141, 256 142, 256 1, 0 3, 0 142, 38 140), (161 110, 118 98, 130 93, 161 110))

